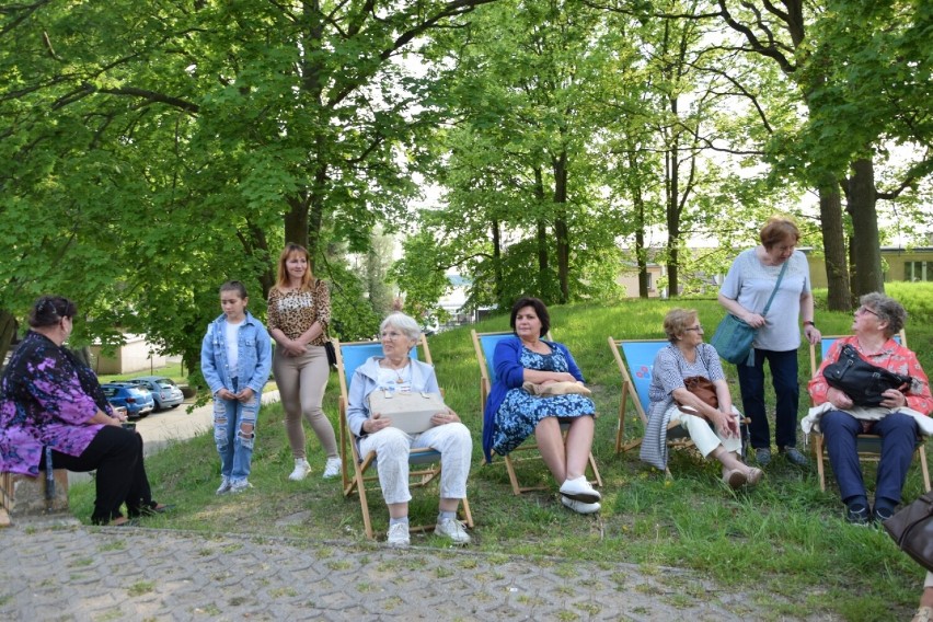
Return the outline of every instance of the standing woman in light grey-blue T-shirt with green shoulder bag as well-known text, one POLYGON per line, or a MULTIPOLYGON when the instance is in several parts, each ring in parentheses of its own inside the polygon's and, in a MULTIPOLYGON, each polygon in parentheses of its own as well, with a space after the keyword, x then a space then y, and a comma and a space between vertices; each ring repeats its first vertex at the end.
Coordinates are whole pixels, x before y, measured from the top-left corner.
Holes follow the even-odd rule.
POLYGON ((760 466, 771 461, 771 430, 764 408, 764 361, 771 368, 774 394, 774 440, 778 450, 792 463, 806 465, 797 450, 797 381, 799 325, 815 344, 820 333, 814 325, 814 298, 806 256, 795 251, 800 231, 786 218, 770 218, 760 232, 761 245, 739 253, 719 289, 719 304, 756 329, 753 361, 737 365, 742 411, 751 418, 749 430, 755 458, 760 466), (786 264, 786 269, 784 265, 786 264), (776 291, 775 291, 776 289, 776 291), (774 293, 771 299, 772 292, 774 293), (761 311, 771 299, 768 316, 761 311))

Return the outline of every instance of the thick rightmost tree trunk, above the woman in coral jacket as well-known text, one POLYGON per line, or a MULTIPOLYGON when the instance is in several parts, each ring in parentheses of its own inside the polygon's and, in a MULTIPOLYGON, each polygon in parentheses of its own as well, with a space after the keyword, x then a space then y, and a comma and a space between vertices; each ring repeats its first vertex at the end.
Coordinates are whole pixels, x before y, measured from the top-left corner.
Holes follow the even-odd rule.
POLYGON ((855 273, 852 280, 853 293, 857 298, 872 291, 884 292, 882 250, 878 246, 878 212, 875 209, 878 197, 875 189, 875 164, 872 160, 861 159, 852 163, 848 198, 846 210, 852 216, 852 272, 855 273))

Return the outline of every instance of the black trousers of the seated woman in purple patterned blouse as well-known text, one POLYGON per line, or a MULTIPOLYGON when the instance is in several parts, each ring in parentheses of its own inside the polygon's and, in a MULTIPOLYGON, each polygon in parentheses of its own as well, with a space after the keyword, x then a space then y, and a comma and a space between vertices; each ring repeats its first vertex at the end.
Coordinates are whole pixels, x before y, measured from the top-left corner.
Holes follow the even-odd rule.
MULTIPOLYGON (((143 507, 152 505, 152 491, 142 463, 142 437, 135 430, 104 426, 81 456, 53 450, 51 465, 77 472, 97 471, 97 497, 91 515, 95 525, 106 525, 123 516, 123 504, 130 517, 139 516, 143 507)), ((39 468, 45 469, 45 459, 39 468)))

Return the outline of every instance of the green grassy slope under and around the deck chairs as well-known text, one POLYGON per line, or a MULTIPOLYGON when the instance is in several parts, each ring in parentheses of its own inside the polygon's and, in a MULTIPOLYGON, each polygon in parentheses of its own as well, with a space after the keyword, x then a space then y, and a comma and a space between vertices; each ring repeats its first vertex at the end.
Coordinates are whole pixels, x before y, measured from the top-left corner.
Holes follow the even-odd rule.
MULTIPOLYGON (((845 525, 838 491, 829 476, 821 493, 815 469, 800 470, 776 459, 755 491, 734 493, 718 481, 718 469, 699 458, 672 456, 672 480, 638 461, 637 452, 615 456, 613 439, 619 412, 620 378, 607 337, 660 338, 661 319, 673 306, 700 311, 706 337, 722 318, 714 300, 631 301, 612 308, 576 304, 552 309, 554 337, 566 343, 594 389, 601 413, 597 421, 594 453, 604 480, 603 507, 597 517, 567 511, 540 460, 519 465, 525 482, 540 480, 546 492, 511 494, 504 464, 482 464, 479 367, 469 327, 430 338, 431 354, 447 401, 474 431, 473 472, 469 483, 476 529, 473 549, 507 551, 565 560, 573 571, 575 560, 598 563, 638 564, 643 572, 663 576, 665 566, 691 568, 724 586, 725 592, 742 591, 750 598, 741 604, 752 618, 830 618, 889 620, 905 618, 919 599, 923 572, 900 553, 890 539, 873 529, 845 525), (753 611, 753 615, 751 614, 753 611)), ((845 334, 851 314, 817 312, 826 334, 845 334)), ((494 318, 476 326, 480 331, 505 330, 508 318, 494 318)), ((933 322, 911 318, 909 343, 919 350, 926 370, 933 369, 929 347, 933 322)), ((727 373, 734 376, 734 369, 727 373)), ((805 382, 809 375, 807 350, 800 349, 804 383, 800 416, 806 412, 805 382)), ((733 379, 734 382, 734 379, 733 379)), ((734 384, 735 387, 735 384, 734 384)), ((336 429, 337 377, 332 375, 325 411, 336 429)), ((737 398, 737 389, 734 389, 737 398)), ((772 400, 773 398, 769 398, 772 400)), ((157 415, 158 416, 158 415, 157 415)), ((257 426, 257 444, 251 481, 255 488, 240 496, 217 497, 219 460, 210 435, 175 444, 147 461, 157 498, 177 504, 169 516, 146 519, 147 526, 191 529, 203 532, 287 534, 314 541, 368 545, 355 498, 341 494, 338 482, 324 482, 320 473, 324 456, 309 430, 309 460, 315 471, 304 482, 289 482, 292 461, 279 405, 265 407, 257 426)), ((629 436, 641 433, 629 425, 629 436)), ((803 446, 803 438, 800 438, 803 446)), ((874 469, 866 466, 873 488, 874 469)), ((917 468, 908 479, 905 498, 921 493, 917 468)), ((82 520, 91 514, 93 488, 77 485, 71 491, 72 510, 82 520)), ((385 507, 378 491, 369 493, 375 529, 384 532, 385 507)), ((437 489, 417 491, 411 506, 414 522, 429 522, 437 510, 437 489)), ((415 535, 414 542, 442 548, 433 535, 415 535)), ((625 578, 620 571, 620 585, 625 578)), ((689 589, 681 579, 671 594, 689 589)), ((715 594, 699 595, 718 598, 715 594)))

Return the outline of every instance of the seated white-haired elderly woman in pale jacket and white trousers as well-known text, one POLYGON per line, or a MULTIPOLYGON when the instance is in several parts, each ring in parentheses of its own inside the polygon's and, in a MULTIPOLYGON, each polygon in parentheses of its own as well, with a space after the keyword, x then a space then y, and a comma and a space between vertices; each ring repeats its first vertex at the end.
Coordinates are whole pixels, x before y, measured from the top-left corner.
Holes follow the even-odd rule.
POLYGON ((440 452, 440 504, 435 533, 457 544, 470 542, 463 525, 457 520, 460 499, 466 496, 466 476, 473 440, 460 417, 448 408, 430 419, 433 427, 421 434, 407 434, 392 427, 392 419, 369 410, 369 394, 376 390, 439 392, 437 377, 429 365, 408 356, 421 329, 404 313, 392 313, 380 326, 382 357, 370 357, 354 373, 349 389, 347 423, 359 444, 360 454, 376 451, 382 497, 389 507, 390 546, 404 548, 408 538, 408 450, 431 448, 440 452))

